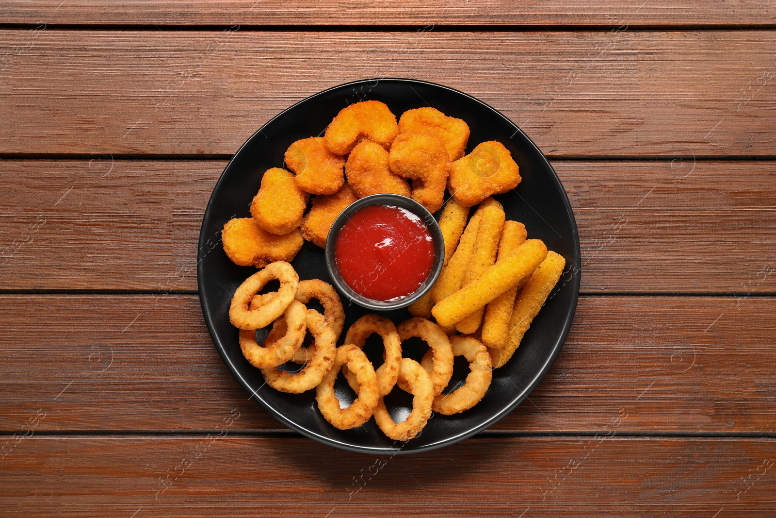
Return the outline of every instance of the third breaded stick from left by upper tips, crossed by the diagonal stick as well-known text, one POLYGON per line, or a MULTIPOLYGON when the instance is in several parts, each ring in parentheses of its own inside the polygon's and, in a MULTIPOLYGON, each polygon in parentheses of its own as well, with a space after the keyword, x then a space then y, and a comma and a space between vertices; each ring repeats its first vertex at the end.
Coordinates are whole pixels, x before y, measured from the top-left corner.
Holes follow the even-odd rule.
MULTIPOLYGON (((477 212, 482 212, 480 228, 477 230, 476 247, 469 261, 469 268, 463 276, 462 286, 476 281, 496 262, 498 242, 504 228, 504 207, 493 198, 487 198, 480 203, 477 212)), ((456 329, 464 335, 470 335, 480 328, 485 308, 479 308, 461 321, 456 322, 456 329)))

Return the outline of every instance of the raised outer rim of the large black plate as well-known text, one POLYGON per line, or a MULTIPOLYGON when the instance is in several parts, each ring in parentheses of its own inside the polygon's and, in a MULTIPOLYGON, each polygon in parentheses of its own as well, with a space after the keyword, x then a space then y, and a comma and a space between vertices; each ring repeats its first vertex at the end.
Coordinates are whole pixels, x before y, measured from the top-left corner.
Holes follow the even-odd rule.
MULTIPOLYGON (((205 254, 206 253, 207 252, 205 252, 205 254)), ((560 353, 560 349, 563 349, 563 345, 566 343, 566 338, 571 329, 571 324, 573 322, 574 316, 577 313, 577 302, 579 301, 581 274, 582 274, 582 264, 581 264, 581 254, 580 254, 579 231, 577 230, 577 219, 574 217, 569 196, 566 193, 566 189, 563 188, 563 183, 560 182, 558 173, 555 171, 555 168, 553 168, 553 165, 549 162, 547 157, 544 155, 544 153, 542 153, 542 151, 535 144, 535 142, 532 141, 531 137, 528 137, 528 135, 525 134, 525 132, 520 127, 518 127, 518 125, 515 124, 508 116, 505 116, 499 110, 496 110, 493 106, 490 106, 489 104, 484 103, 483 101, 481 101, 480 99, 477 99, 474 96, 470 96, 466 92, 461 92, 460 90, 450 88, 449 86, 439 85, 438 83, 423 81, 421 79, 412 79, 412 78, 369 78, 369 79, 358 79, 351 82, 345 82, 340 85, 334 85, 334 86, 331 86, 330 88, 314 93, 311 96, 307 96, 304 99, 300 99, 296 103, 293 103, 293 105, 286 107, 286 109, 282 110, 280 113, 273 116, 272 119, 262 124, 262 127, 259 127, 258 130, 256 130, 253 134, 251 134, 251 136, 248 137, 246 141, 244 141, 244 143, 240 146, 240 148, 238 148, 237 151, 234 152, 234 155, 232 155, 232 158, 230 158, 227 165, 223 168, 223 171, 221 172, 221 175, 219 176, 215 186, 213 186, 213 191, 210 193, 210 198, 208 199, 207 207, 203 214, 202 224, 200 225, 200 228, 199 228, 199 240, 197 242, 197 295, 199 297, 200 308, 202 309, 203 318, 207 325, 208 333, 210 334, 210 341, 213 342, 213 346, 216 348, 219 356, 221 356, 221 360, 223 361, 223 363, 230 370, 232 377, 234 377, 234 379, 237 380, 237 382, 242 386, 242 388, 246 392, 248 392, 248 394, 251 395, 250 397, 251 400, 253 400, 254 402, 257 402, 259 405, 262 406, 262 408, 265 409, 265 411, 267 411, 270 415, 272 415, 272 417, 277 419, 282 424, 288 426, 290 429, 293 429, 296 432, 301 433, 303 436, 307 436, 310 439, 317 440, 318 442, 324 443, 328 446, 338 447, 342 450, 348 450, 348 451, 361 453, 361 454, 383 454, 383 453, 416 454, 424 451, 436 450, 438 448, 450 446, 454 443, 458 443, 461 440, 465 440, 471 436, 474 436, 477 433, 480 433, 481 431, 483 431, 484 429, 487 429, 490 426, 493 426, 496 422, 500 421, 506 415, 512 412, 514 408, 520 405, 521 402, 523 402, 523 400, 525 400, 525 398, 527 398, 528 395, 530 395, 532 391, 534 391, 534 389, 539 384, 539 382, 542 381, 542 379, 549 372, 550 367, 552 367, 553 363, 555 363, 555 360, 558 354, 560 353), (430 85, 436 88, 449 90, 450 92, 455 92, 456 94, 465 96, 468 99, 475 101, 476 103, 483 106, 483 108, 490 110, 491 112, 494 112, 498 116, 501 116, 504 120, 508 121, 508 123, 510 123, 512 127, 514 127, 515 129, 515 133, 512 135, 512 137, 510 137, 510 140, 511 138, 514 138, 514 136, 518 133, 521 134, 523 137, 525 137, 526 141, 528 141, 528 144, 530 144, 535 149, 535 151, 539 154, 539 156, 542 157, 542 160, 545 162, 546 166, 553 173, 552 175, 553 182, 556 183, 556 186, 559 188, 560 192, 563 193, 563 209, 566 211, 566 215, 571 221, 571 230, 572 230, 571 238, 573 241, 573 264, 577 265, 577 271, 573 275, 573 283, 571 286, 573 290, 571 307, 570 307, 570 311, 568 312, 568 315, 566 316, 565 322, 563 322, 563 331, 560 333, 559 339, 557 340, 556 345, 553 346, 553 351, 550 354, 549 358, 546 360, 542 368, 539 370, 539 373, 537 373, 535 377, 533 377, 532 381, 528 384, 528 387, 525 389, 525 391, 523 391, 523 393, 520 396, 518 396, 518 398, 515 398, 514 402, 512 402, 510 405, 508 405, 503 410, 501 410, 501 412, 497 412, 494 415, 491 415, 489 419, 486 419, 484 422, 473 427, 473 429, 469 429, 466 432, 459 433, 456 436, 447 437, 444 440, 438 440, 435 443, 427 444, 424 446, 412 447, 410 449, 405 449, 404 447, 397 447, 397 448, 355 447, 348 443, 341 443, 338 440, 331 439, 331 437, 317 434, 313 430, 309 430, 304 428, 303 426, 297 425, 296 422, 293 422, 292 420, 287 419, 286 416, 282 415, 281 412, 277 411, 272 406, 263 402, 261 398, 258 398, 258 394, 256 393, 258 390, 261 389, 261 387, 254 390, 248 385, 248 382, 244 380, 239 370, 237 370, 237 368, 234 366, 234 363, 232 363, 229 360, 229 358, 226 356, 226 353, 223 350, 223 347, 220 346, 219 340, 216 339, 217 333, 216 333, 215 326, 213 325, 213 319, 210 318, 210 314, 206 308, 205 299, 202 295, 203 277, 205 275, 203 271, 204 255, 202 251, 204 249, 210 252, 210 249, 206 247, 206 243, 208 240, 210 240, 210 238, 206 235, 205 222, 210 219, 210 213, 211 213, 211 210, 213 210, 213 198, 216 195, 216 193, 220 191, 220 188, 223 187, 222 184, 224 182, 224 175, 226 174, 227 169, 229 169, 230 165, 232 165, 232 162, 234 162, 234 159, 237 157, 237 155, 239 155, 240 152, 243 150, 243 148, 245 148, 248 145, 248 143, 251 142, 258 134, 262 134, 262 130, 265 127, 271 124, 275 119, 278 119, 279 117, 286 114, 286 112, 293 110, 293 108, 300 105, 301 103, 307 103, 318 96, 323 96, 324 94, 331 92, 332 90, 347 88, 355 85, 363 85, 364 83, 375 82, 377 84, 383 81, 403 82, 407 84, 417 84, 417 85, 430 85)), ((262 387, 263 386, 264 385, 262 385, 262 387)), ((422 434, 422 431, 421 431, 421 434, 422 434)), ((420 436, 420 434, 418 436, 420 436)), ((394 443, 397 443, 397 442, 399 441, 394 441, 394 443)))

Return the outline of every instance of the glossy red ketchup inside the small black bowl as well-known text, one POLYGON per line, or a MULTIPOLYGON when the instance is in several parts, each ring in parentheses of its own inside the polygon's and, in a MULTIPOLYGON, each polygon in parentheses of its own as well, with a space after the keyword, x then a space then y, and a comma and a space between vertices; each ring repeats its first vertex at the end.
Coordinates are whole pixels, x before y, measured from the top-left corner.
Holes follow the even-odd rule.
POLYGON ((396 301, 428 277, 434 242, 423 220, 409 210, 369 205, 342 226, 334 257, 342 279, 357 294, 396 301))

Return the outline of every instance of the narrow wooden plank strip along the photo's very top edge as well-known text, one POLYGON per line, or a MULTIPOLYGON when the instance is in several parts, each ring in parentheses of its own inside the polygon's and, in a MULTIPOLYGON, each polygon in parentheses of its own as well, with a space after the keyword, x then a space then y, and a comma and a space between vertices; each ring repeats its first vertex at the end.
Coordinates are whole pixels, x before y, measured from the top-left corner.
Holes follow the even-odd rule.
POLYGON ((279 0, 222 0, 212 3, 165 0, 69 1, 9 0, 0 7, 5 23, 68 23, 129 25, 564 25, 618 26, 640 24, 676 26, 712 24, 732 26, 773 23, 776 9, 771 2, 704 2, 689 0, 677 5, 669 0, 538 0, 515 4, 504 0, 466 2, 431 0, 379 5, 331 0, 281 2, 279 0))

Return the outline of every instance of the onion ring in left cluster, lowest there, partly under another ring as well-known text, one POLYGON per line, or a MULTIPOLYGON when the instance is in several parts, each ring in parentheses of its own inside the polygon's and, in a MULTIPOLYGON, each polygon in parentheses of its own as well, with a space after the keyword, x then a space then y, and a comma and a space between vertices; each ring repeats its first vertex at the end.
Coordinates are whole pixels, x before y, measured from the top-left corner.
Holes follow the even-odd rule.
POLYGON ((324 315, 320 315, 314 309, 308 309, 307 329, 310 330, 315 339, 315 349, 310 351, 313 346, 303 349, 305 353, 310 353, 310 359, 302 370, 291 373, 277 370, 275 367, 262 369, 267 384, 275 390, 291 392, 292 394, 309 391, 311 388, 316 388, 331 370, 336 347, 334 346, 334 332, 326 325, 324 315))

